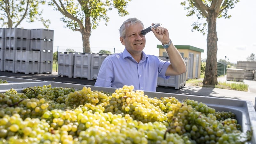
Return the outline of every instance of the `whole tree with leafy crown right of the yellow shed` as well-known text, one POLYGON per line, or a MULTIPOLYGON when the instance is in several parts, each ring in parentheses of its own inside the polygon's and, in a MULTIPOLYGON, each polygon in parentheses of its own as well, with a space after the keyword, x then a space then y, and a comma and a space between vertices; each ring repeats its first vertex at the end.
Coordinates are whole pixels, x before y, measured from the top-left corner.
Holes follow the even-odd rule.
MULTIPOLYGON (((217 81, 217 18, 230 18, 228 9, 234 8, 239 0, 187 0, 181 5, 188 11, 187 16, 197 16, 193 29, 203 35, 207 33, 207 59, 203 85, 216 85, 217 81), (200 20, 200 22, 199 22, 200 20), (204 20, 204 22, 202 22, 204 20), (207 26, 207 29, 206 29, 207 26)), ((193 30, 192 30, 193 31, 193 30)))

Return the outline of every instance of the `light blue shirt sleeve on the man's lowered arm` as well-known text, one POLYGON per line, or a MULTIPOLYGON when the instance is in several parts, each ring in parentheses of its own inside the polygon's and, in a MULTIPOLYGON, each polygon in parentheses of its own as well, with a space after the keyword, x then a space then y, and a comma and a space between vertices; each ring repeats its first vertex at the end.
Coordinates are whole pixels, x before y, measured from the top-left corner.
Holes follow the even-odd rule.
POLYGON ((113 82, 113 66, 111 60, 104 59, 95 82, 95 86, 111 87, 113 82))

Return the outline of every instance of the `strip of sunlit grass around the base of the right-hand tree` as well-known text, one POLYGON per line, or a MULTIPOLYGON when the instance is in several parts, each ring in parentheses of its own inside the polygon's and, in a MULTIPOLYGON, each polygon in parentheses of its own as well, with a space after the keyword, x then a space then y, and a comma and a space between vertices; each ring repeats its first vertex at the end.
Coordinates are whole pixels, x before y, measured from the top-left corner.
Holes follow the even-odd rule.
MULTIPOLYGON (((212 86, 212 85, 204 85, 204 87, 213 87, 213 88, 221 88, 221 89, 229 89, 229 90, 236 90, 236 91, 248 91, 248 85, 237 82, 237 83, 227 83, 227 82, 218 82, 218 85, 212 86)), ((203 79, 189 79, 186 81, 186 85, 190 86, 201 86, 203 87, 203 79)))

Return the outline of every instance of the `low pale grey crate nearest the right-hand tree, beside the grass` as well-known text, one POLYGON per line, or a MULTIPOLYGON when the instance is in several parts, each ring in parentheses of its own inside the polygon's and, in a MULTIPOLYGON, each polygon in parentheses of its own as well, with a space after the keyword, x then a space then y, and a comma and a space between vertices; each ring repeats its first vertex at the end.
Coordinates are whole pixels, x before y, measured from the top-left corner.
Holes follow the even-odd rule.
POLYGON ((245 69, 227 68, 227 81, 244 81, 245 69))

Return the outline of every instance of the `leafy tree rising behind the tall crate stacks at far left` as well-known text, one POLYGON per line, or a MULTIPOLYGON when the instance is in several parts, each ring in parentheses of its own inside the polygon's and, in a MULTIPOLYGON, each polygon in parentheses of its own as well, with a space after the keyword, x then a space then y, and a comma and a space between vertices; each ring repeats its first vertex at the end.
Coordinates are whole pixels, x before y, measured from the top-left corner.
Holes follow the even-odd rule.
POLYGON ((39 10, 39 5, 45 4, 45 0, 0 0, 0 25, 7 28, 17 28, 23 21, 41 21, 45 28, 49 28, 50 20, 44 20, 43 10, 39 10))

